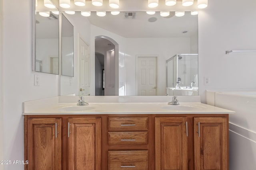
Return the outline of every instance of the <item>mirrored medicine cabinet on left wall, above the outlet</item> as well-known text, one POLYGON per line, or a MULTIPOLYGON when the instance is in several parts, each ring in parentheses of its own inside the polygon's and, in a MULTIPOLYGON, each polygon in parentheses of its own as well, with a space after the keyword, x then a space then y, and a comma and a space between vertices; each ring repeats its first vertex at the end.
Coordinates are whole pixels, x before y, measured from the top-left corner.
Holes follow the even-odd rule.
POLYGON ((51 3, 50 9, 44 0, 36 0, 34 70, 59 74, 58 2, 51 3))

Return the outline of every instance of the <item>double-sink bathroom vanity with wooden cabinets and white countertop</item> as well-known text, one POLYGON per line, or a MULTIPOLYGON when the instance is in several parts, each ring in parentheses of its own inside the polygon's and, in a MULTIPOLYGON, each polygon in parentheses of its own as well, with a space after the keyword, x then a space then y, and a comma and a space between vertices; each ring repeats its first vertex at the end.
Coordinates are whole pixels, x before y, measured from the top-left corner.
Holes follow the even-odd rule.
POLYGON ((76 106, 59 98, 24 102, 25 169, 228 170, 232 111, 198 102, 76 106))

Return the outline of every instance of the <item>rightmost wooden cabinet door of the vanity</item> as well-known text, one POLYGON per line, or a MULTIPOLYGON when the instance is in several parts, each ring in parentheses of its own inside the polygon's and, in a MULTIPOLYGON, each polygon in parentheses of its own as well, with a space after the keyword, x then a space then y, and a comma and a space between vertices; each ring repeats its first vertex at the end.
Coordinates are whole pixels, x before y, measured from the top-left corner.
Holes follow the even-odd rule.
POLYGON ((194 118, 195 170, 228 170, 226 117, 194 118))

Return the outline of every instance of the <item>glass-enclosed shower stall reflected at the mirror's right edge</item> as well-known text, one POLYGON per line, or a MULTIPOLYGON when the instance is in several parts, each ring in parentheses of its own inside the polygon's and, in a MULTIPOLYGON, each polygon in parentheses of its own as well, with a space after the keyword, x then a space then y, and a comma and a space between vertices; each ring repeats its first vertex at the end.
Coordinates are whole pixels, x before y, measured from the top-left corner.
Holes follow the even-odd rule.
POLYGON ((166 94, 198 95, 198 54, 176 54, 166 61, 166 94))

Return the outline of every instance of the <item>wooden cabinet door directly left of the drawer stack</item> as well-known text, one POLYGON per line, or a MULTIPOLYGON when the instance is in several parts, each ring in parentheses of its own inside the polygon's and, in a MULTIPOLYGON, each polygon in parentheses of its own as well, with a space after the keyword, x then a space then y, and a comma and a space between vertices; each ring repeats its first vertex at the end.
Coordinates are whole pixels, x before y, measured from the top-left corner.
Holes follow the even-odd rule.
POLYGON ((101 169, 101 118, 68 119, 69 170, 101 169))

